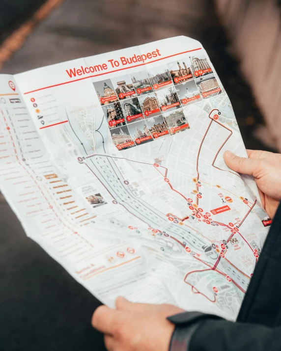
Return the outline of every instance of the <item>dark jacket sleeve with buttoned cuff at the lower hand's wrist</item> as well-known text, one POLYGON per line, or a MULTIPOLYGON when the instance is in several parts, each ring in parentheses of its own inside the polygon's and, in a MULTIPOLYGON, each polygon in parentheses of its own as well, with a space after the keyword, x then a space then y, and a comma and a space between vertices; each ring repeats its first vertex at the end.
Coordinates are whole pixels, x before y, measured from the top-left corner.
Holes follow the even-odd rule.
POLYGON ((176 324, 170 351, 281 350, 281 327, 234 323, 197 312, 171 316, 168 320, 176 324), (177 316, 180 315, 182 316, 178 323, 177 316), (184 315, 187 323, 184 322, 184 315))

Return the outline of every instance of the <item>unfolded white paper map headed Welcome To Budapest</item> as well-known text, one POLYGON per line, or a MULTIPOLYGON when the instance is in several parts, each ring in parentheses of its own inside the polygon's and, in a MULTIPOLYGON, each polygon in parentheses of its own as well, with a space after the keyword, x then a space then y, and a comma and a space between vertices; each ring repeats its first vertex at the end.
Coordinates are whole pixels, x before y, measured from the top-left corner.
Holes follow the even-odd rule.
MULTIPOLYGON (((271 219, 208 54, 175 37, 0 75, 0 189, 95 297, 235 320, 271 219)), ((50 272, 52 274, 52 272, 50 272)))

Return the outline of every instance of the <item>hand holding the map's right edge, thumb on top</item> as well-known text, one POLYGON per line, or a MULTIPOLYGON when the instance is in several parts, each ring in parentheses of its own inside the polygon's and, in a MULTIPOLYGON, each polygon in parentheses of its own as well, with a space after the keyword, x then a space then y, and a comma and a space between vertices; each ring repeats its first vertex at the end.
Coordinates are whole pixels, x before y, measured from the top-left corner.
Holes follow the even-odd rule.
POLYGON ((281 200, 281 154, 247 150, 249 159, 225 151, 225 163, 232 170, 250 174, 256 181, 262 205, 273 218, 281 200))

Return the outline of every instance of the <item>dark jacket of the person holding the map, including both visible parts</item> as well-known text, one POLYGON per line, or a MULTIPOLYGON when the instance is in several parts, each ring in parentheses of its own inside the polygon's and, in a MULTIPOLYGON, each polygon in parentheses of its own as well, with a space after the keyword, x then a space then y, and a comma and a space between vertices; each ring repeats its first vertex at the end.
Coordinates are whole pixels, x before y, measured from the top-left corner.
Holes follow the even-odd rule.
POLYGON ((281 350, 281 204, 276 212, 237 321, 184 312, 176 324, 170 351, 281 350))

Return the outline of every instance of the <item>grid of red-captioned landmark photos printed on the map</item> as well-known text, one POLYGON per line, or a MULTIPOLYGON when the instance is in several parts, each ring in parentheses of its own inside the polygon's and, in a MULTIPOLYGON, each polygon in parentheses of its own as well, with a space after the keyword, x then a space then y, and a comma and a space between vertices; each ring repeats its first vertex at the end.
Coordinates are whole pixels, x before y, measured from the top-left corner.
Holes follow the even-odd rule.
POLYGON ((201 52, 93 85, 118 150, 190 129, 183 107, 222 93, 201 52))

